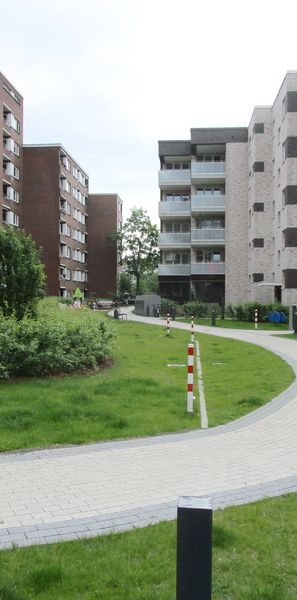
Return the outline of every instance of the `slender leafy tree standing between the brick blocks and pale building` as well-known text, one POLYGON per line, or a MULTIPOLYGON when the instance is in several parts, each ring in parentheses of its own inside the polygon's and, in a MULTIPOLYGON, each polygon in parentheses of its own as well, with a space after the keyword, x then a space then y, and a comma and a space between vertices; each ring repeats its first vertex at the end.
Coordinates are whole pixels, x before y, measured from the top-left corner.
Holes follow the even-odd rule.
POLYGON ((119 244, 121 262, 126 272, 135 278, 138 294, 141 277, 152 273, 159 264, 157 226, 151 223, 147 211, 133 208, 115 238, 119 244))

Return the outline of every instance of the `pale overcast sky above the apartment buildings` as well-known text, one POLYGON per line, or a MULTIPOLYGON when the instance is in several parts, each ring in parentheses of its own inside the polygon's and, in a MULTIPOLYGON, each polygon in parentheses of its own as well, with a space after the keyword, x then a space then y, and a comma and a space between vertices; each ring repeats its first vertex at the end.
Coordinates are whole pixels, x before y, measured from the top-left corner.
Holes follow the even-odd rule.
POLYGON ((0 0, 0 70, 24 142, 61 142, 158 222, 158 140, 247 126, 297 69, 296 0, 0 0))

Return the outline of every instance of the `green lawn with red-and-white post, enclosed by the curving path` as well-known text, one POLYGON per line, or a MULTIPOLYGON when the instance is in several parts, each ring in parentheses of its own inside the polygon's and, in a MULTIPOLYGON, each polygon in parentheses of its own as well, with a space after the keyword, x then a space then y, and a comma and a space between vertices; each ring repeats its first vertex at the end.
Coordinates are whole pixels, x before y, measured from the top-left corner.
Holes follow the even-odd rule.
MULTIPOLYGON (((197 414, 185 412, 186 367, 167 366, 186 364, 190 333, 167 338, 159 326, 129 321, 115 327, 114 364, 103 372, 0 384, 0 451, 199 427, 197 414)), ((262 348, 199 340, 210 426, 261 406, 294 379, 291 367, 262 348)))

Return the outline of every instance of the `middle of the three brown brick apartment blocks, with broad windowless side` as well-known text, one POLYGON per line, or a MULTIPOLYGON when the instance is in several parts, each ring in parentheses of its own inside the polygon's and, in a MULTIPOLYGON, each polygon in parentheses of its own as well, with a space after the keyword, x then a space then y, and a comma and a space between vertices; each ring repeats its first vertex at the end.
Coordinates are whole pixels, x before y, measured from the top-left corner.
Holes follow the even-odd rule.
POLYGON ((23 227, 42 248, 46 293, 87 293, 88 175, 61 144, 24 145, 23 170, 23 227))

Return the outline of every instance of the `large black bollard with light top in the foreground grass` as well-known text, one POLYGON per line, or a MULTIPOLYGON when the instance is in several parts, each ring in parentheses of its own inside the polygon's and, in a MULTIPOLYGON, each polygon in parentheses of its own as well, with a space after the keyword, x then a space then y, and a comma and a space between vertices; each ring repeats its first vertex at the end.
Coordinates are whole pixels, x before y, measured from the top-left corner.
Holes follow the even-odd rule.
POLYGON ((181 496, 177 507, 176 600, 211 600, 212 501, 181 496))

